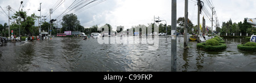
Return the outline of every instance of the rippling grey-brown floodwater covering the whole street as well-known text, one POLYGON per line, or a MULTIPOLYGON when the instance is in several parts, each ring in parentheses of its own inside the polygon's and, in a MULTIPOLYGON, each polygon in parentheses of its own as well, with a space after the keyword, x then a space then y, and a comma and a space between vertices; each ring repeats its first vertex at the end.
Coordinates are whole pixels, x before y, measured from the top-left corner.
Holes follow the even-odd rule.
MULTIPOLYGON (((145 38, 124 37, 141 42, 145 38)), ((110 38, 113 39, 113 38, 110 38)), ((177 71, 256 71, 256 52, 241 51, 245 38, 224 38, 227 49, 206 52, 189 42, 183 49, 183 36, 177 37, 177 71)), ((0 71, 92 71, 144 72, 171 71, 171 38, 159 36, 159 45, 99 44, 97 39, 60 38, 34 42, 5 43, 0 46, 0 71)))

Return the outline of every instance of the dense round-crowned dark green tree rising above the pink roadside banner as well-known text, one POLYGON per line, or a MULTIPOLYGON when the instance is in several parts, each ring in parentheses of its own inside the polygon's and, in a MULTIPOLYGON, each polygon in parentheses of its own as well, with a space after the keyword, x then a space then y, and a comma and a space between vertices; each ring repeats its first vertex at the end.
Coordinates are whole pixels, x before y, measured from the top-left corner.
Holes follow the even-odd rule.
POLYGON ((64 15, 62 20, 61 25, 64 31, 76 31, 76 26, 80 25, 77 15, 73 13, 64 15))

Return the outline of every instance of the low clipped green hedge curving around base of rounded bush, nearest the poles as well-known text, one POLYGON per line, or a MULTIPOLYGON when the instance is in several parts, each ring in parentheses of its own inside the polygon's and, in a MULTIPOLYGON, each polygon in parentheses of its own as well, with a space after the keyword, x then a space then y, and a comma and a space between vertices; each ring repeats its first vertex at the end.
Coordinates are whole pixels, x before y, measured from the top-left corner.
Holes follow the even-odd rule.
POLYGON ((198 43, 197 48, 203 51, 221 51, 226 49, 226 44, 220 43, 219 45, 212 46, 212 45, 205 45, 205 43, 198 43))

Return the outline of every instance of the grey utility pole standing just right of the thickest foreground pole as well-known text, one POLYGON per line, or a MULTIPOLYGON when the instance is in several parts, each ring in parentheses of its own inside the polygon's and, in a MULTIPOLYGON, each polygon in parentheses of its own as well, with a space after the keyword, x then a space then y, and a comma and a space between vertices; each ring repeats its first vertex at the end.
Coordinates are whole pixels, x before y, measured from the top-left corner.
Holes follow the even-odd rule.
POLYGON ((185 0, 184 49, 188 49, 188 0, 185 0))

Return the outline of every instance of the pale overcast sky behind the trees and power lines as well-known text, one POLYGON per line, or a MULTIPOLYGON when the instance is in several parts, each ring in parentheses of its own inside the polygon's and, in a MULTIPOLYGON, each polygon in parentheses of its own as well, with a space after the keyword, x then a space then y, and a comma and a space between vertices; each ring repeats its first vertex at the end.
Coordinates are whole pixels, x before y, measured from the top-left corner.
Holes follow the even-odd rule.
MULTIPOLYGON (((42 15, 49 16, 49 9, 51 9, 57 2, 61 0, 1 0, 0 6, 0 23, 8 23, 8 18, 5 11, 8 14, 7 6, 10 5, 14 10, 18 11, 20 6, 20 1, 23 1, 23 11, 27 11, 28 15, 35 13, 40 16, 38 8, 40 3, 42 3, 42 15)), ((62 0, 63 2, 51 15, 52 19, 56 19, 61 13, 63 13, 75 0, 62 0)), ((77 2, 80 0, 77 0, 77 2)), ((89 0, 91 2, 93 0, 89 0)), ((93 2, 97 3, 100 0, 93 2)), ((189 2, 189 19, 192 20, 193 24, 197 24, 197 5, 196 0, 188 0, 189 2)), ((205 4, 207 0, 203 0, 205 4)), ((88 3, 87 2, 87 3, 88 3)), ((209 0, 216 10, 217 17, 220 22, 220 27, 222 22, 226 22, 232 19, 233 22, 240 22, 244 18, 256 18, 256 1, 255 0, 209 0)), ((91 4, 93 4, 91 3, 91 4)), ((86 3, 85 3, 86 4, 86 3)), ((83 5, 85 5, 83 4, 83 5)), ((92 5, 90 5, 92 6, 92 5)), ((81 9, 81 12, 75 12, 80 20, 80 23, 84 27, 90 27, 95 24, 100 24, 103 26, 109 23, 115 28, 116 26, 125 26, 125 28, 131 28, 131 26, 137 26, 138 24, 144 24, 147 26, 148 23, 152 23, 155 17, 160 17, 161 20, 166 20, 167 24, 171 24, 171 0, 106 0, 97 5, 89 7, 85 6, 81 9)), ((210 8, 205 5, 208 12, 211 14, 210 8)), ((68 10, 68 14, 71 11, 68 10)), ((13 12, 10 11, 10 15, 13 12)), ((184 0, 177 0, 177 18, 184 16, 184 0)), ((202 17, 205 14, 200 15, 200 22, 202 22, 202 17)), ((46 18, 47 18, 46 17, 46 18)), ((60 20, 61 18, 57 18, 60 20)), ((211 26, 211 22, 207 17, 206 24, 211 26)), ((215 19, 214 19, 215 20, 215 19)), ((47 18, 49 21, 49 17, 47 18)), ((165 23, 165 22, 162 22, 165 23)), ((214 22, 215 24, 215 22, 214 22)), ((38 26, 36 20, 35 26, 38 26)), ((213 28, 215 30, 215 27, 213 28)))

